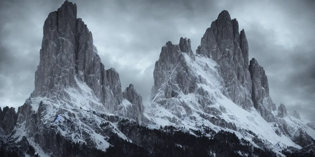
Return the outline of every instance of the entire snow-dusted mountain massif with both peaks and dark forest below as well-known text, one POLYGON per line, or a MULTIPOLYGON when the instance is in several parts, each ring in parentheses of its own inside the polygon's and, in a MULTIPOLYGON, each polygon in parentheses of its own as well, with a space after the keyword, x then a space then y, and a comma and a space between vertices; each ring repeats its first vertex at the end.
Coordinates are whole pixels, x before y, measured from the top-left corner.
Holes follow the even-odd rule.
POLYGON ((65 1, 45 20, 34 91, 17 113, 0 110, 0 155, 315 155, 314 122, 276 108, 238 30, 222 11, 196 54, 190 39, 168 41, 144 105, 133 84, 123 91, 116 70, 105 69, 76 4, 65 1))

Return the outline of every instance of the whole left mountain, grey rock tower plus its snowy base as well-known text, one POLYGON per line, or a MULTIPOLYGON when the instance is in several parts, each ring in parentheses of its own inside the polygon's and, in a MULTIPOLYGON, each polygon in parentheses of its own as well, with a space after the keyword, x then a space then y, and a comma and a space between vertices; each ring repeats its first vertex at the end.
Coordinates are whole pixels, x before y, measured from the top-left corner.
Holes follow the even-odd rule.
MULTIPOLYGON (((128 139, 115 128, 114 123, 125 118, 117 110, 124 95, 133 103, 125 116, 141 121, 142 97, 132 84, 123 93, 117 71, 105 69, 92 33, 77 18, 76 4, 66 0, 49 13, 39 53, 31 96, 17 113, 12 107, 0 110, 1 150, 19 156, 33 156, 33 151, 39 156, 68 156, 72 142, 81 150, 104 151, 113 135, 128 139)), ((96 154, 87 151, 79 156, 96 154)))

